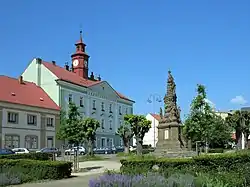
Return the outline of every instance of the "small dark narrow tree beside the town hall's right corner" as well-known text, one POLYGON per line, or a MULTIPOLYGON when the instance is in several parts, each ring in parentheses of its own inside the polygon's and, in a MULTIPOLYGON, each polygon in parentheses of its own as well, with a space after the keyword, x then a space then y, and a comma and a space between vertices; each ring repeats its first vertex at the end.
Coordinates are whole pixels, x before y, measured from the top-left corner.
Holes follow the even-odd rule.
POLYGON ((129 125, 128 121, 125 121, 124 124, 122 124, 118 128, 116 134, 122 138, 123 145, 125 147, 124 152, 129 153, 129 142, 133 138, 133 132, 131 130, 131 126, 129 125))

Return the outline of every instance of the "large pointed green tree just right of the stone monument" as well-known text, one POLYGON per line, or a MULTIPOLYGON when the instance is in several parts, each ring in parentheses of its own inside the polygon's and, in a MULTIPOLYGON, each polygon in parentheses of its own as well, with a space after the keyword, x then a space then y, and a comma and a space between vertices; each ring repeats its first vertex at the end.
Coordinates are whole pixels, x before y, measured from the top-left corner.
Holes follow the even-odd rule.
POLYGON ((183 128, 186 139, 202 141, 208 145, 228 141, 230 138, 229 128, 224 120, 217 116, 208 104, 205 86, 197 85, 197 96, 193 99, 190 113, 188 114, 183 128))

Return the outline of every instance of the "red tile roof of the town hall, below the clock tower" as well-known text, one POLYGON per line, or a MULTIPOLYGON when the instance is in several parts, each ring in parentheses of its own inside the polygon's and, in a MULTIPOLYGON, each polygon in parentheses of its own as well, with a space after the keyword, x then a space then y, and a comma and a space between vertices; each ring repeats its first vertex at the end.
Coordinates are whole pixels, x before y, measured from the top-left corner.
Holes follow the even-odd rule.
MULTIPOLYGON (((70 82, 76 85, 84 86, 84 87, 90 87, 96 84, 101 83, 102 81, 92 81, 88 79, 84 79, 83 77, 78 76, 77 74, 66 70, 65 68, 62 68, 60 66, 57 66, 50 62, 42 62, 42 64, 49 69, 53 74, 55 74, 60 80, 70 82)), ((118 96, 124 100, 132 101, 133 100, 127 98, 126 96, 122 95, 119 92, 116 92, 118 96)))

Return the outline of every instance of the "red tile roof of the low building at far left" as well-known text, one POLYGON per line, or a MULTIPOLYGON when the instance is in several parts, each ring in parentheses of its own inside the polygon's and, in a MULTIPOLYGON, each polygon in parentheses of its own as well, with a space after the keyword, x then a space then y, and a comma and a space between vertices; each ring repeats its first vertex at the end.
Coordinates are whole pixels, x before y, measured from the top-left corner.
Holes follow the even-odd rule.
POLYGON ((59 106, 34 83, 0 75, 0 101, 60 110, 59 106))

